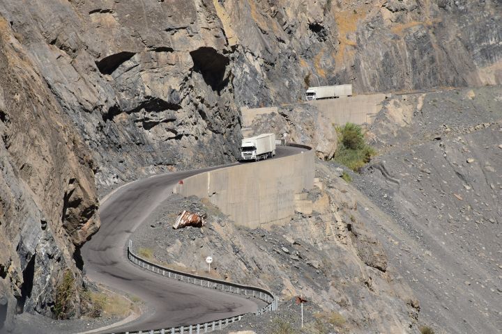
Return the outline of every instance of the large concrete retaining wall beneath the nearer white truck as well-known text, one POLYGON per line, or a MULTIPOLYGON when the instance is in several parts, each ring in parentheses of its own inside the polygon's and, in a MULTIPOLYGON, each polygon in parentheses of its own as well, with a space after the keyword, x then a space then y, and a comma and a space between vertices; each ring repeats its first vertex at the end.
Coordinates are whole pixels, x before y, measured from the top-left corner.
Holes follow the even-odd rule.
POLYGON ((220 168, 188 177, 173 192, 208 198, 237 225, 282 224, 295 211, 295 193, 312 189, 314 152, 220 168), (287 168, 284 168, 287 166, 287 168))

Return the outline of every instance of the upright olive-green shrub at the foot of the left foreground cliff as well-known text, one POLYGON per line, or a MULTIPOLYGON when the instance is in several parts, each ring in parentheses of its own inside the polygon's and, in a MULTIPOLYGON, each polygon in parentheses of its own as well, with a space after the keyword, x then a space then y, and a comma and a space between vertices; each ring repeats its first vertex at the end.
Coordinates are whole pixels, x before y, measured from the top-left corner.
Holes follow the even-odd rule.
POLYGON ((54 297, 54 315, 57 319, 70 319, 75 315, 75 278, 70 269, 66 269, 63 280, 56 286, 54 297))

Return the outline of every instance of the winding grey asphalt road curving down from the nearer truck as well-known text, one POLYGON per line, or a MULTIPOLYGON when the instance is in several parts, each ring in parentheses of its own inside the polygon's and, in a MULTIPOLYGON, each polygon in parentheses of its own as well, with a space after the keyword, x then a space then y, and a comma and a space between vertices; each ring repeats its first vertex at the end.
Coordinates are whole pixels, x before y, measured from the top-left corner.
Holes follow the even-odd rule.
MULTIPOLYGON (((276 158, 301 150, 277 147, 276 158)), ((126 243, 132 232, 172 194, 179 180, 216 168, 137 180, 112 193, 101 205, 101 228, 82 247, 86 276, 96 283, 137 296, 146 303, 144 315, 129 324, 108 329, 108 332, 197 324, 257 310, 257 301, 169 280, 139 269, 126 257, 126 243)))

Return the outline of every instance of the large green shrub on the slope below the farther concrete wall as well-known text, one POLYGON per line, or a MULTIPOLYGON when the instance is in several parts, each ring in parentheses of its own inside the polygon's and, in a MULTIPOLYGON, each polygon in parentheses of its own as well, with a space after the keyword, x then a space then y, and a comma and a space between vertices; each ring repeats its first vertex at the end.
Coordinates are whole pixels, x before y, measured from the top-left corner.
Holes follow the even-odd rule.
POLYGON ((363 129, 359 125, 347 123, 336 130, 340 144, 333 160, 337 163, 358 171, 377 154, 374 148, 365 143, 363 129))

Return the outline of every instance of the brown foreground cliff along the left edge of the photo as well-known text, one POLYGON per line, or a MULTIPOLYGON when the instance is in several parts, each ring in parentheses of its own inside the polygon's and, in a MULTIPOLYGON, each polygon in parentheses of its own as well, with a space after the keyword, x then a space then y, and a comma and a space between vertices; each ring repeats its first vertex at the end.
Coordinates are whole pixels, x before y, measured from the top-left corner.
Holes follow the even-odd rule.
POLYGON ((0 17, 0 328, 51 315, 63 270, 82 284, 79 246, 100 225, 91 154, 14 35, 0 17))

